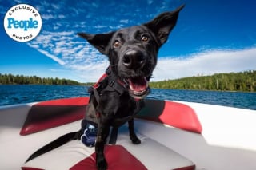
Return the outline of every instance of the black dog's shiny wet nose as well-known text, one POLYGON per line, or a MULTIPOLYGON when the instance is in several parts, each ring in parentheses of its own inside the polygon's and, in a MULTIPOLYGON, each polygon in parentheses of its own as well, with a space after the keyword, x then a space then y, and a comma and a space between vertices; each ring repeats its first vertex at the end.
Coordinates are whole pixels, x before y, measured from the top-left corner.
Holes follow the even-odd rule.
POLYGON ((128 69, 137 69, 142 67, 145 64, 145 57, 141 51, 138 50, 128 50, 123 58, 122 63, 128 69))

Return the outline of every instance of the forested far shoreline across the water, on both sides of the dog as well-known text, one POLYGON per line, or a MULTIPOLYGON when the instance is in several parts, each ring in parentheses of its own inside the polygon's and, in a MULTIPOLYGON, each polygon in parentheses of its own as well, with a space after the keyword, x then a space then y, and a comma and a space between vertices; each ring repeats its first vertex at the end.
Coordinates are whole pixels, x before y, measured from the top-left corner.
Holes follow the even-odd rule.
MULTIPOLYGON (((0 73, 0 85, 94 85, 58 77, 37 77, 0 73)), ((185 77, 150 82, 154 89, 181 89, 219 92, 256 92, 256 70, 240 73, 216 73, 211 76, 185 77)))

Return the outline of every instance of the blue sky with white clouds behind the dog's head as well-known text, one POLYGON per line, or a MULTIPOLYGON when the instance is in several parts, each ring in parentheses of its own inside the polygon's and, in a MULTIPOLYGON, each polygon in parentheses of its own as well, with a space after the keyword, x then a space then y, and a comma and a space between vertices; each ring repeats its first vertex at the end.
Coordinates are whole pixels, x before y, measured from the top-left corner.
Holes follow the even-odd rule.
POLYGON ((138 25, 183 3, 151 81, 256 69, 254 0, 0 0, 0 73, 97 81, 107 57, 76 33, 138 25), (3 28, 6 11, 18 3, 34 6, 42 17, 42 30, 30 42, 15 42, 3 28))

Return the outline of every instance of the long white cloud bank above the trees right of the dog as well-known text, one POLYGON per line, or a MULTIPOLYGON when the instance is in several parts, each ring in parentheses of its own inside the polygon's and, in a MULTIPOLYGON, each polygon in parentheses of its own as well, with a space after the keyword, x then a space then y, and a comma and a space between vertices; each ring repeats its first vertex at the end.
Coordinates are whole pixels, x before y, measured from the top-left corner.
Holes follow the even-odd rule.
POLYGON ((256 69, 256 48, 212 50, 182 58, 159 58, 152 81, 256 69))

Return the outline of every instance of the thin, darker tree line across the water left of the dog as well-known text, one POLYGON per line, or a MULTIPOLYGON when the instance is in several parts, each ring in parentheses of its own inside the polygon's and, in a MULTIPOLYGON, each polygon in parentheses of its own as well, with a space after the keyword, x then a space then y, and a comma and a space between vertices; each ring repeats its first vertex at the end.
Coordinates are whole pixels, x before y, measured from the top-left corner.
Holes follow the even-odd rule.
POLYGON ((58 77, 37 77, 0 73, 0 85, 81 85, 78 81, 58 77))

